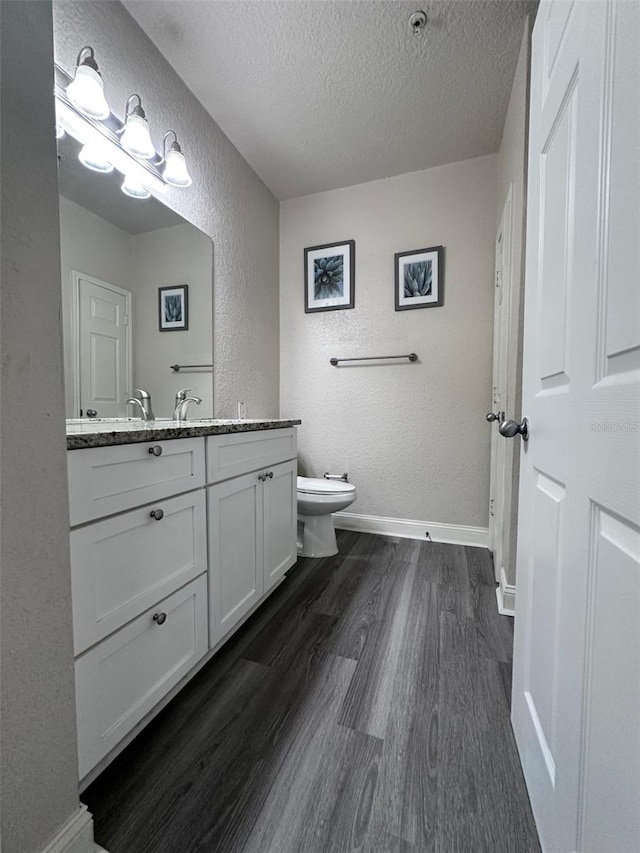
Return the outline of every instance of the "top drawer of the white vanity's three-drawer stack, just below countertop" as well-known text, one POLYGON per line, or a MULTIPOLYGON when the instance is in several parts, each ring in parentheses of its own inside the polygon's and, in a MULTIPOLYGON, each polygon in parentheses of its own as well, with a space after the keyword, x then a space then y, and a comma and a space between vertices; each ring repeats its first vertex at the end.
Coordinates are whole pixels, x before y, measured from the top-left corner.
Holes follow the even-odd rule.
POLYGON ((203 486, 204 442, 179 438, 71 450, 67 467, 73 526, 203 486))

